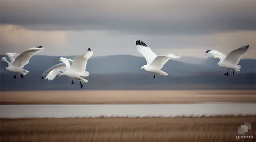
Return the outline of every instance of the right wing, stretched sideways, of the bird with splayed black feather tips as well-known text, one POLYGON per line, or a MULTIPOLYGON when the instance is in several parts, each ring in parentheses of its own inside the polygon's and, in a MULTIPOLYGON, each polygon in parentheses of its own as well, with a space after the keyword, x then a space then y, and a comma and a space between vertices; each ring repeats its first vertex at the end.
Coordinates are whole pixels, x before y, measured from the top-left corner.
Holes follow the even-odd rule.
POLYGON ((156 67, 158 69, 162 69, 162 67, 166 64, 166 62, 170 58, 180 58, 181 56, 168 54, 168 55, 159 55, 157 56, 153 62, 151 62, 150 66, 156 67))

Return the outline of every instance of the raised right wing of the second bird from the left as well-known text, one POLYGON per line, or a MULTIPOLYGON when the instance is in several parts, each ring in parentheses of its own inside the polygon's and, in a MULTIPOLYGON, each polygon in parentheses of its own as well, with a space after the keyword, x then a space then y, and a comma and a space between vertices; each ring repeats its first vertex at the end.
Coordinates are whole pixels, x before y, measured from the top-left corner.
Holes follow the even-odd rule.
POLYGON ((92 56, 92 51, 90 48, 85 52, 85 54, 82 54, 80 56, 77 56, 73 59, 73 63, 70 67, 71 70, 76 70, 79 72, 83 72, 86 69, 87 61, 92 56))

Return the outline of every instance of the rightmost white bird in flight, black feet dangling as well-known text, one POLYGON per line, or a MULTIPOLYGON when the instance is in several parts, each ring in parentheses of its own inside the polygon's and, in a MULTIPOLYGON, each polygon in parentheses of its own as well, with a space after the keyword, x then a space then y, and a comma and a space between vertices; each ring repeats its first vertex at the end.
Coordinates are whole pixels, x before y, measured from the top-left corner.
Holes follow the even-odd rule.
MULTIPOLYGON (((244 55, 246 53, 246 51, 249 49, 249 45, 246 46, 242 46, 240 48, 237 48, 233 51, 231 51, 228 56, 226 56, 225 54, 216 51, 216 50, 207 50, 206 51, 206 55, 212 55, 212 59, 214 58, 219 58, 219 62, 218 65, 219 67, 223 67, 228 69, 233 70, 233 75, 234 75, 234 71, 235 72, 239 72, 241 69, 241 65, 238 65, 241 56, 244 55)), ((228 71, 224 74, 224 76, 229 76, 228 71)))

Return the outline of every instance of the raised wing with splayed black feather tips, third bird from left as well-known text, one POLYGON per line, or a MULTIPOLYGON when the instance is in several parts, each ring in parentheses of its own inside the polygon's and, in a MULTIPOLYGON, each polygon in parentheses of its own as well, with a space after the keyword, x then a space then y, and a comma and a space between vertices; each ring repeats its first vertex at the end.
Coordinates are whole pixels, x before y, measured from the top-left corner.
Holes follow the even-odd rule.
POLYGON ((147 65, 149 65, 155 58, 156 54, 143 41, 136 41, 137 51, 144 56, 147 65))

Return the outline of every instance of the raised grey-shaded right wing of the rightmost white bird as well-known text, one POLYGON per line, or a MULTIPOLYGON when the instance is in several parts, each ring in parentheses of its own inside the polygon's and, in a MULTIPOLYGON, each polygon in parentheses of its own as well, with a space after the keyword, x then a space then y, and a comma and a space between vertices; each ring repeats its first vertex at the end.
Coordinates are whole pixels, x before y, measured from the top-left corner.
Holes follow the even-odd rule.
POLYGON ((249 45, 242 46, 238 49, 235 49, 231 51, 223 61, 229 62, 230 64, 233 64, 233 65, 237 65, 241 59, 241 56, 244 55, 248 49, 249 49, 249 45))

